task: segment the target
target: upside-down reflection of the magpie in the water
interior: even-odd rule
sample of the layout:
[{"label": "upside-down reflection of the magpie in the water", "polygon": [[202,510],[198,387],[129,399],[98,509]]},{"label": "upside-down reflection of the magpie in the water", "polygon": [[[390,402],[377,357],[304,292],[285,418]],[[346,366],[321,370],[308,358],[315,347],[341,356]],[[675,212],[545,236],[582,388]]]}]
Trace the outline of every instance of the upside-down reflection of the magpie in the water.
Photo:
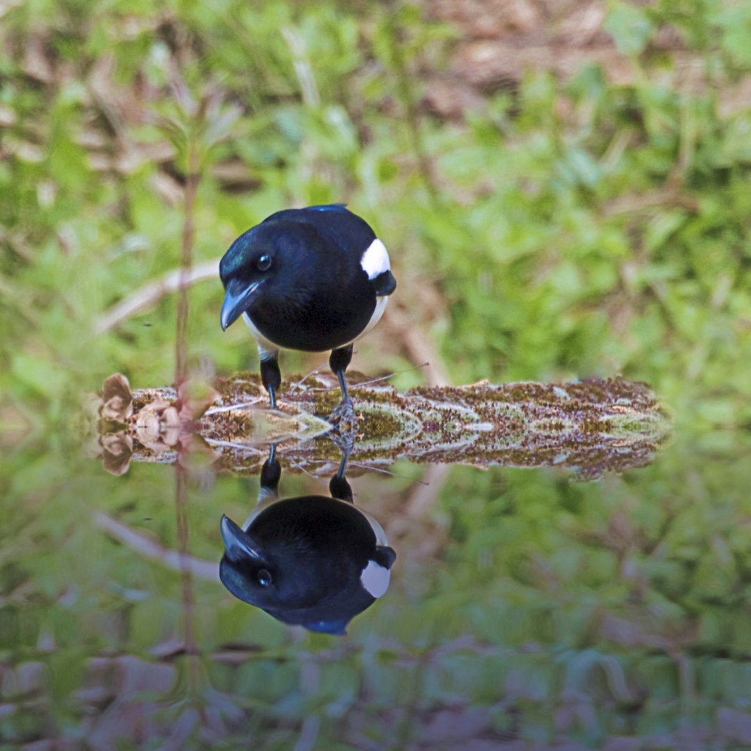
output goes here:
[{"label": "upside-down reflection of the magpie in the water", "polygon": [[272,449],[245,530],[222,516],[219,577],[234,596],[282,623],[343,635],[385,593],[397,554],[381,525],[354,507],[345,464],[330,481],[332,498],[279,499]]}]

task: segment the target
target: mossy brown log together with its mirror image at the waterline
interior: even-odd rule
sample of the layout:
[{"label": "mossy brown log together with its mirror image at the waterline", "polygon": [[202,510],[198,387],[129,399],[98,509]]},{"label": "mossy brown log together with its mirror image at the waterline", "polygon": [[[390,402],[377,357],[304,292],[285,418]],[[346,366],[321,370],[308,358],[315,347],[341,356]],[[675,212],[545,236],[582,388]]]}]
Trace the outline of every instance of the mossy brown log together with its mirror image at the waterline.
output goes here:
[{"label": "mossy brown log together with its mirror image at the waterline", "polygon": [[[624,379],[560,385],[534,382],[415,388],[348,374],[358,430],[351,468],[383,468],[397,459],[481,468],[565,466],[578,478],[645,466],[668,438],[668,409],[647,385]],[[258,474],[264,445],[279,444],[288,471],[320,472],[338,464],[326,417],[338,388],[327,375],[282,386],[283,412],[264,409],[267,395],[249,374],[213,388],[185,385],[130,390],[127,379],[104,382],[92,407],[98,415],[97,454],[120,474],[130,461],[213,460],[217,469]],[[336,436],[334,431],[333,436]],[[185,459],[183,458],[185,457]],[[194,457],[192,460],[187,457]],[[328,472],[330,474],[330,472]]]}]

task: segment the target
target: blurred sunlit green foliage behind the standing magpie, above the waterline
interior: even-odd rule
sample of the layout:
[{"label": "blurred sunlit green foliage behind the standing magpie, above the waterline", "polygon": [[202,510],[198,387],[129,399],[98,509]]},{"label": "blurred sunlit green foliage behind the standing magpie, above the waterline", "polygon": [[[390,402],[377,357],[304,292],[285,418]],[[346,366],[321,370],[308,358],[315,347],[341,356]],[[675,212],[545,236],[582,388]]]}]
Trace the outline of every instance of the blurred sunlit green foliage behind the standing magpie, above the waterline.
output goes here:
[{"label": "blurred sunlit green foliage behind the standing magpie, above the waterline", "polygon": [[[412,5],[176,4],[157,21],[149,3],[82,17],[50,2],[42,30],[30,7],[5,18],[0,71],[9,397],[54,417],[65,373],[77,387],[113,370],[170,380],[171,300],[91,332],[176,267],[196,149],[197,260],[279,207],[348,201],[401,279],[439,291],[430,333],[455,382],[618,371],[686,424],[710,392],[731,424],[747,420],[749,115],[718,107],[746,74],[744,6],[617,3],[608,29],[632,85],[595,67],[566,83],[530,74],[464,125],[418,107],[415,73],[451,34]],[[694,83],[652,46],[666,25],[701,55]],[[242,192],[217,177],[226,164],[246,174]],[[243,332],[218,333],[221,294],[191,291],[192,360],[252,366]],[[366,343],[363,356],[375,365]]]}]

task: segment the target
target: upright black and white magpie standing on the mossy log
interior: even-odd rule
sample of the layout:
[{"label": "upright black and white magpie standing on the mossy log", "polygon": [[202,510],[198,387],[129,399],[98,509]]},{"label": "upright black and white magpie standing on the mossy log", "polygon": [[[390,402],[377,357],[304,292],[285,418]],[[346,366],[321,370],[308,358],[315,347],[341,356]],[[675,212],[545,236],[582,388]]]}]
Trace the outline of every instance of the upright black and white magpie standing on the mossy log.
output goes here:
[{"label": "upright black and white magpie standing on the mossy log", "polygon": [[279,350],[331,350],[342,403],[352,342],[383,315],[397,286],[384,244],[344,204],[278,211],[232,243],[219,264],[222,329],[240,316],[258,342],[261,382],[276,407]]}]

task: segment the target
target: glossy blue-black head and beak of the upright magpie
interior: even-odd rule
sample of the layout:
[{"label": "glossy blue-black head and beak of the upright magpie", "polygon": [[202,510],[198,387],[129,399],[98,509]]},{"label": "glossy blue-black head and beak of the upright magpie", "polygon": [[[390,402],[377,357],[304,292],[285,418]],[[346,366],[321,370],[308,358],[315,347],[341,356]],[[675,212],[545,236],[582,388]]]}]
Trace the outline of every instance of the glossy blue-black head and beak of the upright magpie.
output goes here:
[{"label": "glossy blue-black head and beak of the upright magpie", "polygon": [[267,220],[240,235],[219,263],[222,329],[252,306],[294,304],[305,295],[320,243],[313,228],[299,222]]}]

